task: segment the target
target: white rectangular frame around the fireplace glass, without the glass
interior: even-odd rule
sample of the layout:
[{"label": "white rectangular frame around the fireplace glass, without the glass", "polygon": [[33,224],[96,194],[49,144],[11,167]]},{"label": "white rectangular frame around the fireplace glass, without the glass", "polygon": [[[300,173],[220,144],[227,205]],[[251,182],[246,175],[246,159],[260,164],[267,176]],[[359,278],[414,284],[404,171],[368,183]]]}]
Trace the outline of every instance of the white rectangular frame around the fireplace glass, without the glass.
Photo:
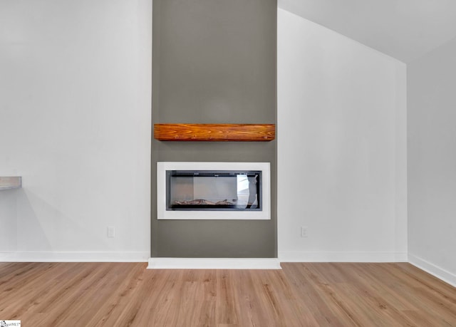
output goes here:
[{"label": "white rectangular frame around the fireplace glass, without the glass", "polygon": [[[167,170],[261,170],[262,209],[259,211],[166,210]],[[269,162],[157,162],[157,219],[271,219]]]}]

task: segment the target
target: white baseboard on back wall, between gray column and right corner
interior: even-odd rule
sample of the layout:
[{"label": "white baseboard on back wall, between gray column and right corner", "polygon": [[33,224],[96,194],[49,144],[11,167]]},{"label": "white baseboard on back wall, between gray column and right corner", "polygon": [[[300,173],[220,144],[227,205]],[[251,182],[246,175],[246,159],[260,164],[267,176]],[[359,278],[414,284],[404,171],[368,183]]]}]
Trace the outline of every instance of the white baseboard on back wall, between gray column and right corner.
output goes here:
[{"label": "white baseboard on back wall, between gray column and right corner", "polygon": [[407,262],[406,252],[279,251],[281,262]]}]

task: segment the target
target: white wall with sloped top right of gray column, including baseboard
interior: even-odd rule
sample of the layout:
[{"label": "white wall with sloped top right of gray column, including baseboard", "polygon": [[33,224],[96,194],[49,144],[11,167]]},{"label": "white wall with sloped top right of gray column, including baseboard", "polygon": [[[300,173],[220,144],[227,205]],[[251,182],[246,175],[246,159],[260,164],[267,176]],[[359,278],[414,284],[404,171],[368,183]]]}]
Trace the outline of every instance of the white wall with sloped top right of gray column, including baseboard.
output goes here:
[{"label": "white wall with sloped top right of gray column, including baseboard", "polygon": [[406,261],[405,64],[281,9],[278,49],[279,259]]}]

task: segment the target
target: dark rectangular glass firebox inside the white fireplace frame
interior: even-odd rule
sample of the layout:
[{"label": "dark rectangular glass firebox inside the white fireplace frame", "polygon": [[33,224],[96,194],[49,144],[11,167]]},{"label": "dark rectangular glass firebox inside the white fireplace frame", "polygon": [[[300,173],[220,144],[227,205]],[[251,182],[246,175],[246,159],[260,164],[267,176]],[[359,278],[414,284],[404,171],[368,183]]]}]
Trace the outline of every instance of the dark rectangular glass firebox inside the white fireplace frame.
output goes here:
[{"label": "dark rectangular glass firebox inside the white fireplace frame", "polygon": [[261,171],[167,170],[167,210],[259,210]]}]

